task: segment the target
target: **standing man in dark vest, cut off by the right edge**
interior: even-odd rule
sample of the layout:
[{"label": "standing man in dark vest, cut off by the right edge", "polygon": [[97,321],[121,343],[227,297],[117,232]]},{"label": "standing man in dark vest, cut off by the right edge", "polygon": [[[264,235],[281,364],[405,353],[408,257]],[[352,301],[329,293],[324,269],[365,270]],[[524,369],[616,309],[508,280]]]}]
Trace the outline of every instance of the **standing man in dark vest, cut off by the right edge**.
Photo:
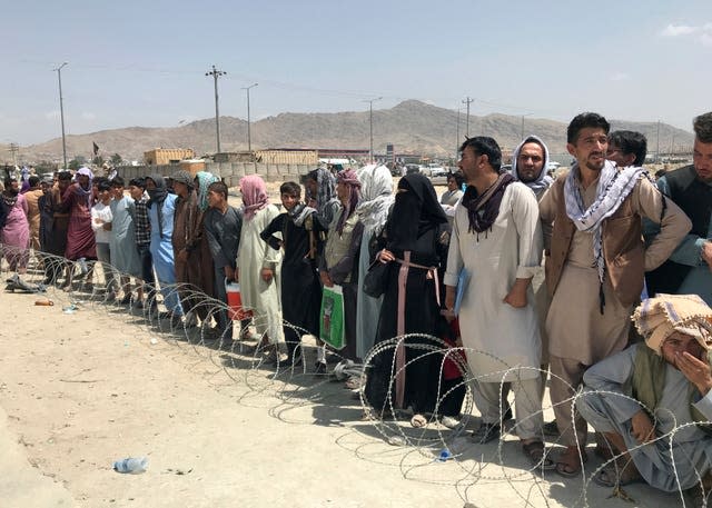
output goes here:
[{"label": "standing man in dark vest, cut off by the right edge", "polygon": [[[699,295],[712,306],[712,111],[695,118],[693,128],[692,166],[657,180],[657,188],[690,217],[692,231],[646,281],[649,295]],[[656,232],[646,227],[646,237]]]}]

